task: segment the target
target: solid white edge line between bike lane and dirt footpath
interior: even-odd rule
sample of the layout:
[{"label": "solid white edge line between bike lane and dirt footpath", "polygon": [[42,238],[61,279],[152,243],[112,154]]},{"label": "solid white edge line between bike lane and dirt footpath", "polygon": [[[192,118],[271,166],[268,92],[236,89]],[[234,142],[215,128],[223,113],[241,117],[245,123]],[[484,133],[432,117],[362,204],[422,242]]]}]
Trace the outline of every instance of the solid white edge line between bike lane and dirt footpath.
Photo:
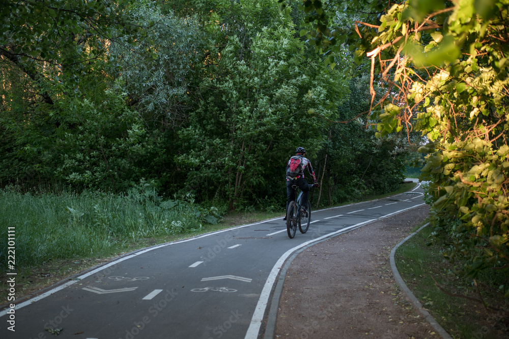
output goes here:
[{"label": "solid white edge line between bike lane and dirt footpath", "polygon": [[262,293],[260,294],[260,298],[258,299],[258,303],[256,305],[256,309],[254,309],[253,316],[251,318],[251,323],[249,324],[249,328],[247,329],[246,336],[244,337],[244,339],[257,339],[258,338],[258,332],[260,332],[260,326],[262,325],[263,315],[265,314],[265,310],[267,309],[267,302],[268,302],[269,297],[270,297],[270,292],[272,291],[272,286],[274,285],[274,282],[276,281],[276,278],[279,275],[279,270],[281,269],[281,267],[283,267],[283,264],[285,263],[285,260],[287,260],[288,257],[290,257],[290,255],[292,253],[294,253],[296,250],[298,250],[300,248],[303,248],[304,246],[306,246],[308,244],[312,244],[314,242],[318,242],[318,241],[320,241],[322,239],[325,239],[327,237],[332,237],[334,235],[345,233],[349,229],[356,228],[356,227],[361,227],[362,225],[369,224],[369,223],[371,223],[373,221],[382,220],[382,219],[391,217],[391,215],[402,213],[404,211],[407,211],[409,209],[416,208],[416,207],[419,207],[419,206],[422,206],[422,205],[425,205],[425,203],[418,204],[418,205],[415,205],[415,206],[412,206],[412,207],[408,207],[408,208],[405,208],[405,209],[401,209],[399,211],[392,212],[390,214],[384,215],[383,217],[380,217],[380,218],[377,218],[377,219],[371,219],[371,220],[367,220],[367,221],[364,221],[364,222],[356,224],[356,225],[345,227],[345,228],[343,228],[341,230],[338,230],[338,231],[335,231],[335,232],[323,235],[323,236],[321,236],[319,238],[303,242],[300,245],[295,246],[293,249],[290,249],[287,252],[285,252],[285,254],[283,254],[276,261],[275,265],[272,267],[272,270],[269,273],[269,276],[268,276],[268,278],[267,278],[267,280],[265,282],[265,285],[263,286]]}]

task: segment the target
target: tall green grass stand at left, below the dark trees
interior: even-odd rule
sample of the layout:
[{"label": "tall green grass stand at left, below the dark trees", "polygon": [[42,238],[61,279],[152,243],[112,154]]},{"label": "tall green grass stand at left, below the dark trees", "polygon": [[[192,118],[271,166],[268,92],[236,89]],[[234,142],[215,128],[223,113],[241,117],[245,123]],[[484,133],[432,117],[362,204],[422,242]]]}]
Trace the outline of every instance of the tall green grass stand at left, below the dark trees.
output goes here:
[{"label": "tall green grass stand at left, below the dark trees", "polygon": [[[211,210],[193,203],[141,198],[0,190],[0,262],[7,263],[8,227],[15,230],[16,266],[22,268],[49,259],[99,256],[143,238],[192,232],[206,219],[214,221]],[[4,273],[5,265],[0,267]]]}]

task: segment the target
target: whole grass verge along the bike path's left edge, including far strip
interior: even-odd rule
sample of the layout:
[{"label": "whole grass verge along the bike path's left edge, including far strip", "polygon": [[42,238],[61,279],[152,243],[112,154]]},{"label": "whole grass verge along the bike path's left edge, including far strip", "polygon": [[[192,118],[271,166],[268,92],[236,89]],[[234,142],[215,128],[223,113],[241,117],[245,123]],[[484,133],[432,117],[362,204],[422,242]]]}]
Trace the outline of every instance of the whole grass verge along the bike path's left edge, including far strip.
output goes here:
[{"label": "whole grass verge along the bike path's left edge, including far strip", "polygon": [[[405,183],[397,192],[365,197],[363,201],[414,187],[415,183]],[[138,249],[284,217],[284,210],[237,211],[212,225],[203,220],[207,211],[202,210],[202,216],[197,217],[191,203],[158,209],[147,199],[103,193],[31,195],[4,190],[0,191],[0,206],[0,225],[16,231],[18,297]],[[0,260],[7,262],[7,227],[0,234]],[[3,269],[0,304],[6,303],[8,296],[7,271]]]}]

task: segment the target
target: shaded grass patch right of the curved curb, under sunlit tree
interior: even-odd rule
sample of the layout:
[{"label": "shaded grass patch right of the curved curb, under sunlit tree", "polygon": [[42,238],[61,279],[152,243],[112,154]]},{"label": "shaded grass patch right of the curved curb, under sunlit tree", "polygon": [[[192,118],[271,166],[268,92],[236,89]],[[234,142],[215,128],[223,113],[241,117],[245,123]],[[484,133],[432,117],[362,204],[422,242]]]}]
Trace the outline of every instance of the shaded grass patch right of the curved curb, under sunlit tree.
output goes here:
[{"label": "shaded grass patch right of the curved curb, under sunlit tree", "polygon": [[[489,305],[507,309],[503,298],[490,289],[477,291],[473,281],[458,266],[444,260],[442,243],[436,240],[429,244],[432,231],[432,227],[425,227],[401,245],[395,255],[398,270],[407,286],[453,338],[509,337],[503,313],[488,311],[482,302],[472,300],[480,300],[482,295]],[[494,281],[502,277],[485,278]]]}]

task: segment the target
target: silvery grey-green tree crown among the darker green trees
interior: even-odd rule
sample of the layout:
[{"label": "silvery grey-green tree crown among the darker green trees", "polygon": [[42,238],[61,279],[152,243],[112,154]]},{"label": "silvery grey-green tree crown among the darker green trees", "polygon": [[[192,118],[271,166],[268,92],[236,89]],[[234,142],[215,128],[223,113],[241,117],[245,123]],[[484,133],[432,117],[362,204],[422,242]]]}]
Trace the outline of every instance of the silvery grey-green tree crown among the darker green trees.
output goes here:
[{"label": "silvery grey-green tree crown among the darker green trees", "polygon": [[145,116],[149,126],[181,125],[192,109],[194,82],[198,81],[204,52],[204,34],[195,18],[162,14],[155,4],[132,6],[131,20],[147,28],[111,44],[110,66],[128,94],[129,106]]}]

